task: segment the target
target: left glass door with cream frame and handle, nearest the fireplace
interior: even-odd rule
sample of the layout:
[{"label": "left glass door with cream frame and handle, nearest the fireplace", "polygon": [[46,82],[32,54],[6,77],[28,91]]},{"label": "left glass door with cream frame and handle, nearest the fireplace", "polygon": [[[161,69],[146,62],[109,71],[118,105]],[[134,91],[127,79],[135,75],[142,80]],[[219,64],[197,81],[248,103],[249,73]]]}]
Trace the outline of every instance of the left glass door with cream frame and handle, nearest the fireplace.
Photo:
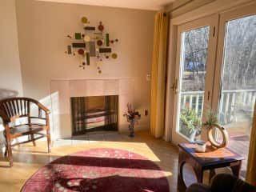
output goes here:
[{"label": "left glass door with cream frame and handle, nearest the fireplace", "polygon": [[[174,82],[173,141],[200,138],[202,117],[211,105],[217,15],[178,26]],[[205,104],[205,105],[204,105]]]}]

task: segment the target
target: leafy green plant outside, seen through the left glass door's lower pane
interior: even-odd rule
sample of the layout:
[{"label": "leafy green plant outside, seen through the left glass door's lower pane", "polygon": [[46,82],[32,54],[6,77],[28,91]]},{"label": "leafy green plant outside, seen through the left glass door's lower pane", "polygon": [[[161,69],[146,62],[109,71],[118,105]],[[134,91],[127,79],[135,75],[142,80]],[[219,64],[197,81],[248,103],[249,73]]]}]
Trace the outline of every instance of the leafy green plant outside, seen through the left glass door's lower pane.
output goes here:
[{"label": "leafy green plant outside, seen through the left glass door's lower pane", "polygon": [[180,122],[181,133],[194,142],[195,136],[200,134],[201,131],[201,118],[194,109],[185,108],[181,111]]}]

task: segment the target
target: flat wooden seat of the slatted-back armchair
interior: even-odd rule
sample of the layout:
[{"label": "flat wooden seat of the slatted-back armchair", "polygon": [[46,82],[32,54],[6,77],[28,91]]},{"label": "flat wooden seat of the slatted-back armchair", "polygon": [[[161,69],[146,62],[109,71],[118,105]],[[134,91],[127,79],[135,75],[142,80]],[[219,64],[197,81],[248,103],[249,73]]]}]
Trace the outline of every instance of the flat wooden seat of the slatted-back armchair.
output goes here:
[{"label": "flat wooden seat of the slatted-back armchair", "polygon": [[27,135],[33,134],[41,130],[46,130],[46,125],[42,124],[28,124],[10,127],[10,134],[12,135]]}]

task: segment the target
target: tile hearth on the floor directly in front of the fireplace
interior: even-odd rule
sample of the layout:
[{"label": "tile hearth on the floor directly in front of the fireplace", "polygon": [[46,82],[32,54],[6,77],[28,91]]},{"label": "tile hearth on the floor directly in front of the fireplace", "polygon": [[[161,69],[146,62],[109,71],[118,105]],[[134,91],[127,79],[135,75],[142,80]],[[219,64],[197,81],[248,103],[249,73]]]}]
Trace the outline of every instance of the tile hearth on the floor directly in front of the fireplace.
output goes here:
[{"label": "tile hearth on the floor directly in front of the fireplace", "polygon": [[86,134],[72,136],[70,138],[59,138],[54,141],[53,146],[66,146],[91,142],[120,141],[129,138],[128,133],[120,134],[118,131],[92,131]]}]

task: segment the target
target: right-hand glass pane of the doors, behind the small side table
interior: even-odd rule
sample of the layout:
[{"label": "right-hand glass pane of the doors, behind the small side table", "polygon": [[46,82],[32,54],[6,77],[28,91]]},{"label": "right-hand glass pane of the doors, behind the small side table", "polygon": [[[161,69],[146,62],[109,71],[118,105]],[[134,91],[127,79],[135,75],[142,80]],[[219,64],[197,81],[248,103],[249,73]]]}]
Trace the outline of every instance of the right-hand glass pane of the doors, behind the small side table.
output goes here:
[{"label": "right-hand glass pane of the doors, behind the small side table", "polygon": [[[230,136],[229,147],[248,156],[256,97],[256,16],[226,22],[222,92],[218,118]],[[242,163],[246,174],[247,159]]]}]

